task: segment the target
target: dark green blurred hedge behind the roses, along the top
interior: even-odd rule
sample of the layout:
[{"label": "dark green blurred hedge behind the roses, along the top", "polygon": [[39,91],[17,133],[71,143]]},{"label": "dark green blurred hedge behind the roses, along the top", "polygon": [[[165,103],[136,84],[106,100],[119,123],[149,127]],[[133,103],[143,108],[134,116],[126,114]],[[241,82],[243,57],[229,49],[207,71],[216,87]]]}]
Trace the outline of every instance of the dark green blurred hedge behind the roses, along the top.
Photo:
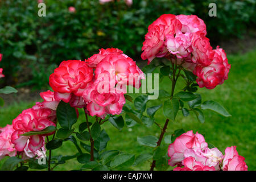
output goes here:
[{"label": "dark green blurred hedge behind the roses, along the top", "polygon": [[[124,1],[105,5],[97,0],[44,2],[46,17],[38,16],[37,1],[0,1],[1,68],[6,76],[2,84],[43,88],[61,61],[87,59],[102,47],[122,49],[139,61],[147,27],[162,14],[198,15],[205,20],[213,43],[241,37],[256,19],[254,0],[141,0],[131,7]],[[211,2],[217,4],[217,17],[208,16]],[[69,13],[69,6],[76,13]]]}]

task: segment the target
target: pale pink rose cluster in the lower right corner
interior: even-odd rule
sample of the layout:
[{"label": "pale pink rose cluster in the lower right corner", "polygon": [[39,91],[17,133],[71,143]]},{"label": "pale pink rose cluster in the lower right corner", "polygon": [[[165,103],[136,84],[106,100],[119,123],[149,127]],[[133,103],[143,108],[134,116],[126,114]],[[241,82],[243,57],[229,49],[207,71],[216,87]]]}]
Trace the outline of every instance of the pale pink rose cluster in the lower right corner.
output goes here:
[{"label": "pale pink rose cluster in the lower right corner", "polygon": [[170,166],[174,171],[247,171],[245,158],[236,146],[227,147],[225,155],[218,148],[209,148],[203,135],[188,131],[177,137],[168,148]]}]

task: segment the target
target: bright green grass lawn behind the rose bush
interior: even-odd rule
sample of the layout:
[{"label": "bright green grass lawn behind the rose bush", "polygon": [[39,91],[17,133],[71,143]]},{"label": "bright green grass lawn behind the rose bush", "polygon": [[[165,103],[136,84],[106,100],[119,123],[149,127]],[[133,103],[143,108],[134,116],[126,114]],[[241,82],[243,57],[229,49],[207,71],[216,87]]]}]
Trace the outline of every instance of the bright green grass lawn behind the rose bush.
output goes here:
[{"label": "bright green grass lawn behind the rose bush", "polygon": [[[245,157],[245,162],[249,170],[256,169],[255,158],[255,110],[256,110],[256,84],[255,84],[255,60],[256,50],[246,53],[245,55],[228,55],[231,69],[229,78],[222,85],[218,85],[212,90],[199,89],[197,92],[202,95],[203,101],[214,100],[222,104],[226,110],[232,114],[232,117],[225,118],[211,111],[205,111],[205,123],[199,123],[191,113],[188,117],[183,117],[181,112],[178,113],[176,121],[170,122],[167,134],[172,134],[176,129],[183,128],[185,131],[198,131],[205,135],[208,143],[218,147],[224,154],[224,150],[229,146],[237,146],[238,153]],[[177,85],[176,92],[183,85]],[[170,90],[171,84],[168,78],[164,78],[160,83],[160,89]],[[138,94],[136,94],[138,95]],[[135,95],[134,95],[135,96]],[[156,104],[160,101],[150,101],[148,105]],[[34,103],[15,103],[0,110],[0,127],[4,127],[7,123],[11,124],[12,120],[22,112],[34,105]],[[165,118],[162,110],[155,114],[156,121],[162,126]],[[84,114],[80,113],[79,125],[85,120]],[[115,129],[110,123],[106,122],[102,126],[109,134],[110,141],[107,150],[120,150],[131,154],[141,154],[142,152],[152,152],[152,148],[140,146],[137,142],[137,136],[155,135],[159,137],[160,131],[158,127],[152,126],[148,129],[142,125],[136,125],[128,129],[124,127],[122,131]],[[76,127],[77,130],[77,127]],[[163,143],[164,144],[164,143]],[[164,144],[168,147],[168,144]],[[77,152],[71,142],[64,142],[57,150],[53,150],[53,155],[63,154],[71,155]],[[0,161],[0,166],[5,159]],[[57,170],[63,169],[79,169],[82,164],[76,160],[69,160],[67,164],[56,167]],[[148,170],[150,161],[143,163],[135,170]]]}]

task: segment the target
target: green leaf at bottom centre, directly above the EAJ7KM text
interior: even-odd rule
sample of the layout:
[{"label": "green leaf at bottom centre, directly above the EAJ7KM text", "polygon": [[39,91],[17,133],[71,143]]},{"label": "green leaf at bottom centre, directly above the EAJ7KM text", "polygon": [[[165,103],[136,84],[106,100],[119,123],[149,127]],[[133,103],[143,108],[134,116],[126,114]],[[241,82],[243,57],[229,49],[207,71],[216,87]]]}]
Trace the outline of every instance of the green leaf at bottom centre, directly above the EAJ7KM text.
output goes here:
[{"label": "green leaf at bottom centre, directly above the EAJ7KM text", "polygon": [[110,162],[110,167],[113,168],[124,168],[133,165],[135,155],[133,154],[119,154]]}]

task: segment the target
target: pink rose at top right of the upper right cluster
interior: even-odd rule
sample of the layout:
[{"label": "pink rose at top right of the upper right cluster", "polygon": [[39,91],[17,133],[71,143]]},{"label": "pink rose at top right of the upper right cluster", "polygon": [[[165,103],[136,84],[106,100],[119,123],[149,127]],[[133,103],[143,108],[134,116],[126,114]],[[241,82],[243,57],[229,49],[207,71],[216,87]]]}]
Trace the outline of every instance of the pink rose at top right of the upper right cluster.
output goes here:
[{"label": "pink rose at top right of the upper right cluster", "polygon": [[178,19],[181,24],[182,32],[203,32],[205,36],[207,34],[206,25],[204,21],[198,18],[196,15],[177,15],[176,19]]}]

